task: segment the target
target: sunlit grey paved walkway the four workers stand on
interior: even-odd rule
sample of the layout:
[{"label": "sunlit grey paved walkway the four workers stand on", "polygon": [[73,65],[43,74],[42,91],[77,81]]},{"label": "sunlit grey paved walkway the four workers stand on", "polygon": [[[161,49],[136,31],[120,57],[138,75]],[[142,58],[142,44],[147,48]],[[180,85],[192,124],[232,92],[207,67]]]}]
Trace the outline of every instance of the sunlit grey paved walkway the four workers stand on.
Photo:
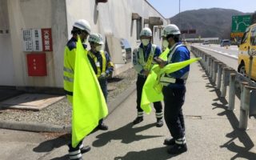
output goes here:
[{"label": "sunlit grey paved walkway the four workers stand on", "polygon": [[[256,159],[256,121],[249,119],[250,130],[238,130],[239,101],[236,111],[226,110],[228,98],[220,98],[220,93],[209,82],[198,63],[191,65],[187,82],[186,102],[183,107],[186,122],[188,151],[178,156],[166,153],[162,142],[170,137],[166,125],[155,126],[154,112],[144,116],[144,121],[136,126],[130,122],[136,117],[136,92],[113,110],[105,122],[107,131],[97,131],[87,136],[84,145],[92,146],[83,154],[90,160],[226,160]],[[68,159],[66,141],[62,138],[45,139],[41,134],[16,132],[0,129],[0,159]],[[26,136],[27,134],[27,136]],[[26,138],[19,138],[24,135]],[[10,141],[11,139],[11,141]],[[22,141],[22,140],[23,141]],[[27,141],[27,142],[24,142]],[[14,148],[14,150],[12,150]],[[11,150],[11,152],[10,152]],[[22,154],[21,154],[22,153]]]}]

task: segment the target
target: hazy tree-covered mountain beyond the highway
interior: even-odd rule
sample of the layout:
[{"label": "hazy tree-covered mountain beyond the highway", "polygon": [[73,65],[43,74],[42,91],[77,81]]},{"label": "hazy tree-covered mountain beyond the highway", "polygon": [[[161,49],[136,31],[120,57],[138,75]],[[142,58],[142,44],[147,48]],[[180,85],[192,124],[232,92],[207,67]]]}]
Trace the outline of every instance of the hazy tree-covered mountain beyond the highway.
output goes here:
[{"label": "hazy tree-covered mountain beyond the highway", "polygon": [[[180,30],[196,30],[196,34],[186,34],[186,38],[230,38],[232,16],[243,15],[238,10],[221,8],[187,10],[170,18]],[[248,13],[247,13],[248,14]]]}]

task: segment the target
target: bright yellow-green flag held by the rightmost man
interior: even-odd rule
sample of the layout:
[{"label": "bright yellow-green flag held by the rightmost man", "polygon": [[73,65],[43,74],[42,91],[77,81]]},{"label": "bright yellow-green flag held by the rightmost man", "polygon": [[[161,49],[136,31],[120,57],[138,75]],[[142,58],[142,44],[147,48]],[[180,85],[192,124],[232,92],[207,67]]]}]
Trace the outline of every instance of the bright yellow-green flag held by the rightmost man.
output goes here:
[{"label": "bright yellow-green flag held by the rightmost man", "polygon": [[[161,55],[160,58],[163,60],[167,59],[167,54],[170,50],[165,50]],[[167,52],[167,53],[166,53]],[[169,65],[160,69],[158,65],[154,65],[150,71],[149,76],[146,78],[146,82],[142,89],[142,101],[141,101],[141,108],[149,114],[151,112],[150,103],[151,102],[158,102],[163,100],[162,95],[162,84],[159,83],[159,78],[161,74],[173,73],[177,70],[181,70],[185,66],[188,66],[192,62],[196,62],[201,58],[191,58],[190,60],[183,61],[183,62],[175,62],[170,63]]]}]

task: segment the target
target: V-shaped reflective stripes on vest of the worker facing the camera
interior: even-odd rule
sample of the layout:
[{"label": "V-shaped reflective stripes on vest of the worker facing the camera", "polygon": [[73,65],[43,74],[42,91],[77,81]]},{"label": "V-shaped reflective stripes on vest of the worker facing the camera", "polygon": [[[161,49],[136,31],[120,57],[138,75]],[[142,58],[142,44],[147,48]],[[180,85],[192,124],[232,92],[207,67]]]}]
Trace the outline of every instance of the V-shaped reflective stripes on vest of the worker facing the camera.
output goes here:
[{"label": "V-shaped reflective stripes on vest of the worker facing the camera", "polygon": [[152,44],[151,50],[150,50],[150,55],[149,58],[147,58],[147,61],[145,62],[144,59],[144,51],[142,50],[141,47],[138,48],[138,62],[143,66],[144,70],[150,70],[151,67],[153,66],[152,61],[154,58],[154,50],[156,49],[156,45]]}]

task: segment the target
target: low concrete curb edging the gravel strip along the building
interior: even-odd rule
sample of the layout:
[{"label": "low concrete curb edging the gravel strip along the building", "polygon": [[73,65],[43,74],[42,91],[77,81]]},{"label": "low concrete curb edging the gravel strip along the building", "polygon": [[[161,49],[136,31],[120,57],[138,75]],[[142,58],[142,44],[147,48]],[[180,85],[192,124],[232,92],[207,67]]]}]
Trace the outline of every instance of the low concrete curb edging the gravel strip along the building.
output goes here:
[{"label": "low concrete curb edging the gravel strip along the building", "polygon": [[[133,84],[122,94],[118,95],[112,102],[108,104],[109,115],[134,92],[136,86]],[[0,121],[0,128],[9,130],[25,130],[33,132],[70,132],[71,126],[60,126],[38,122],[12,122]]]}]

